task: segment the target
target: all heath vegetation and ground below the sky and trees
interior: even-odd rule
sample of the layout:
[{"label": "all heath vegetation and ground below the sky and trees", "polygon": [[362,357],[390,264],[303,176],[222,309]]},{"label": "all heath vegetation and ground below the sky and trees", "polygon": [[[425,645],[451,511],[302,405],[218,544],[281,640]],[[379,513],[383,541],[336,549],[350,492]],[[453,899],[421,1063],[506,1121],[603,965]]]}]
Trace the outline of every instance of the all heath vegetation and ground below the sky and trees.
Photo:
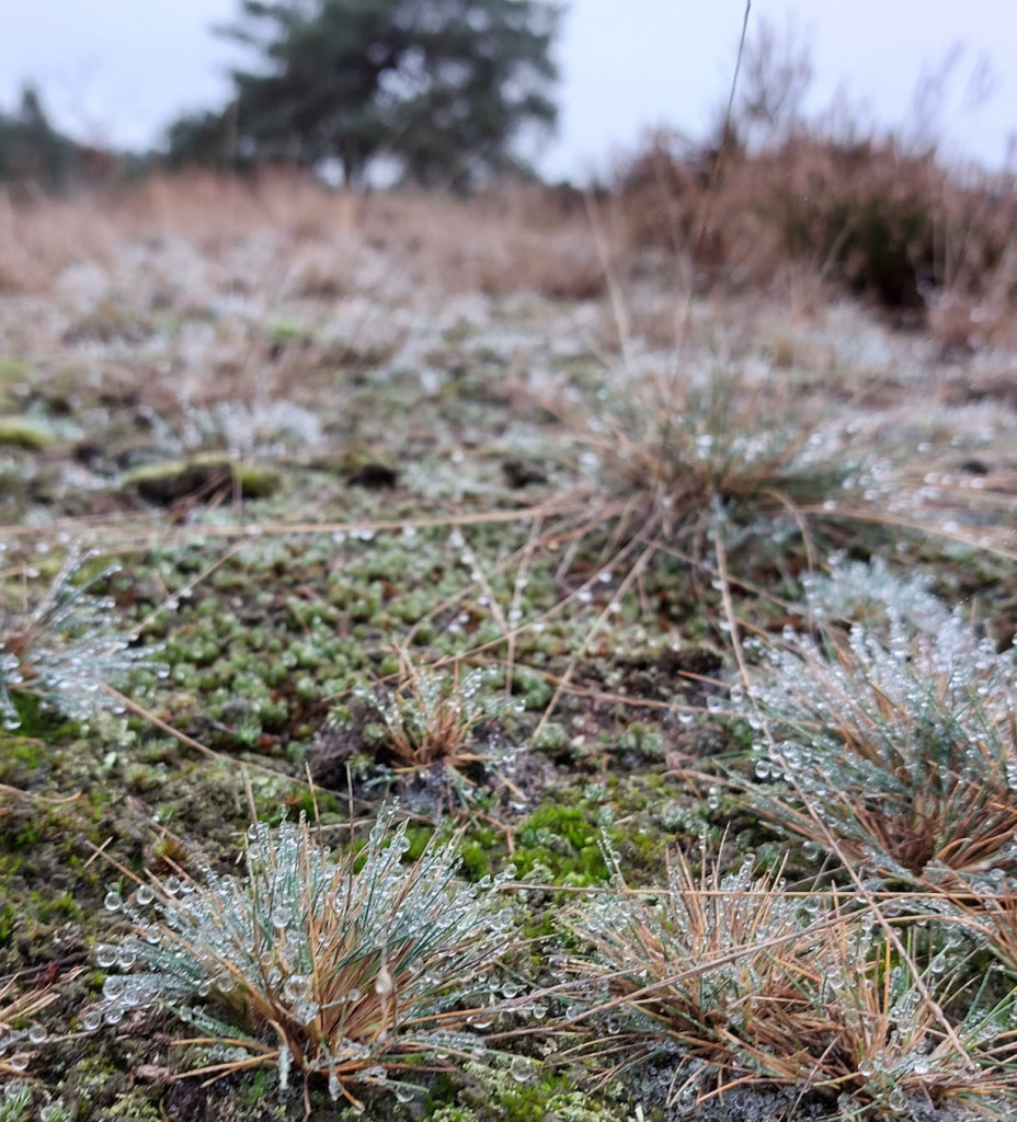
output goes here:
[{"label": "all heath vegetation and ground below the sky and trees", "polygon": [[1010,188],[694,155],[0,203],[0,1116],[1013,1116]]}]

